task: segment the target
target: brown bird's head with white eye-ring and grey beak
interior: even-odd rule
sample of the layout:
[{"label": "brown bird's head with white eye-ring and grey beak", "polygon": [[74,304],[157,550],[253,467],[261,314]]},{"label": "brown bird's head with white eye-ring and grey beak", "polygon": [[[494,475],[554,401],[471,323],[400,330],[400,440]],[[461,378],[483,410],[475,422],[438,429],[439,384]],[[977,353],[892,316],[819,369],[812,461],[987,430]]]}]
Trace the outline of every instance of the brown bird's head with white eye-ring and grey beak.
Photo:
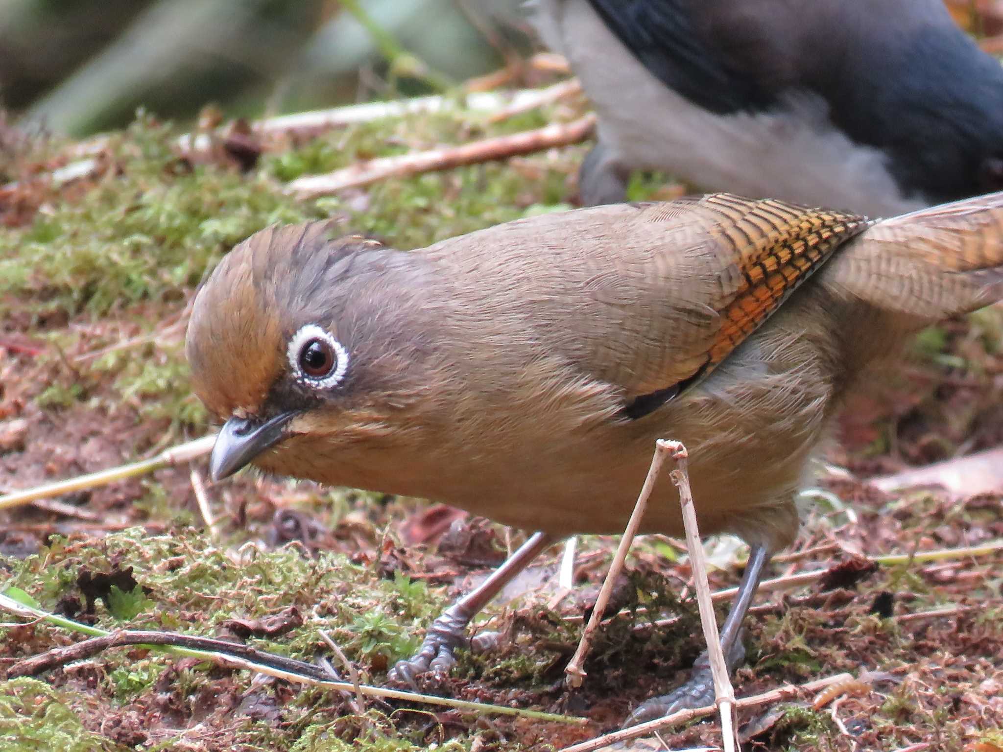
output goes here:
[{"label": "brown bird's head with white eye-ring and grey beak", "polygon": [[411,255],[358,236],[331,240],[330,230],[263,230],[196,297],[192,386],[225,421],[214,479],[254,463],[331,481],[327,458],[345,446],[407,432],[422,346],[401,325],[415,286],[394,281],[414,273]]}]

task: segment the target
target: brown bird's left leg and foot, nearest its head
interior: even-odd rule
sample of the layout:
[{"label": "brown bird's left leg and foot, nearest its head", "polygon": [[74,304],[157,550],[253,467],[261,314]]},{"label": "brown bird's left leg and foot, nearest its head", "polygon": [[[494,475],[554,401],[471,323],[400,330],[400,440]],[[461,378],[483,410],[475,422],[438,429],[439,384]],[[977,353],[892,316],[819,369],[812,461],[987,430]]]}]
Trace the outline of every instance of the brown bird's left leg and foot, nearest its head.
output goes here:
[{"label": "brown bird's left leg and foot, nearest its head", "polygon": [[555,540],[557,537],[547,532],[533,533],[489,578],[432,622],[421,648],[410,659],[397,662],[390,670],[390,679],[413,685],[418,674],[448,671],[456,663],[452,652],[463,644],[470,620]]}]

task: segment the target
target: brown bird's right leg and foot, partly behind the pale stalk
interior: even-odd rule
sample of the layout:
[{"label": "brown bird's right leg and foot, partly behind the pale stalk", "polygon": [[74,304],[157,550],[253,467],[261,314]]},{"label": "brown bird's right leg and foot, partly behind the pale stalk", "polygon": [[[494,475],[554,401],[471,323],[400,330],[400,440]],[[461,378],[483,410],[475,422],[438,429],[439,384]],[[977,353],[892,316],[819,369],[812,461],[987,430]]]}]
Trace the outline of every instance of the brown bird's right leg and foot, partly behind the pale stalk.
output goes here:
[{"label": "brown bird's right leg and foot, partly behind the pale stalk", "polygon": [[[721,628],[721,649],[724,652],[724,661],[728,665],[729,673],[734,671],[735,667],[745,659],[745,648],[741,641],[742,620],[745,619],[749,606],[752,604],[752,598],[755,596],[759,581],[762,579],[763,568],[768,560],[769,553],[765,546],[753,545],[751,547],[749,560],[745,566],[745,574],[742,575],[742,582],[738,586],[738,593],[735,595],[731,611],[728,612],[727,619],[724,620],[724,625]],[[714,680],[710,674],[710,662],[707,660],[705,651],[693,663],[689,679],[669,694],[653,697],[641,703],[624,722],[624,727],[662,718],[679,710],[713,704]]]}]

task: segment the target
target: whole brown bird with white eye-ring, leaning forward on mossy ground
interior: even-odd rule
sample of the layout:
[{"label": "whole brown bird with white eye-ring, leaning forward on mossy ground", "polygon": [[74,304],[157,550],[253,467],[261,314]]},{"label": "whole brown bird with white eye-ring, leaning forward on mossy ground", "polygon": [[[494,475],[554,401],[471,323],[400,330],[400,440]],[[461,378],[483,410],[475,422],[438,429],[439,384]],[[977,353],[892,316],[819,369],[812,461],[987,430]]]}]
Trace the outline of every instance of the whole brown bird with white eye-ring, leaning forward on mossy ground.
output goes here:
[{"label": "whole brown bird with white eye-ring, leaning forward on mossy ground", "polygon": [[[225,477],[275,473],[454,504],[538,530],[397,665],[463,628],[559,537],[623,530],[655,440],[683,441],[703,533],[751,546],[732,666],[794,495],[865,368],[1003,298],[1003,193],[880,222],[715,195],[519,220],[400,252],[323,222],[240,244],[200,291],[193,386]],[[678,535],[675,487],[643,528]],[[631,722],[712,699],[706,664]]]}]

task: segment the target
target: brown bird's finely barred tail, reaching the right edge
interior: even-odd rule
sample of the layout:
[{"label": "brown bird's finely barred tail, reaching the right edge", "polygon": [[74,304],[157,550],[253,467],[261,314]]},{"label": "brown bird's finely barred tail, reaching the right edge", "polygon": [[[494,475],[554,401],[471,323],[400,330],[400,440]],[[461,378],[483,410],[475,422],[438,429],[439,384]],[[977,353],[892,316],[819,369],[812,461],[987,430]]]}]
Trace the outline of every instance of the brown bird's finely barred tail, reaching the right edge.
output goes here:
[{"label": "brown bird's finely barred tail, reaching the right edge", "polygon": [[876,222],[820,281],[903,329],[1003,300],[1003,192]]}]

